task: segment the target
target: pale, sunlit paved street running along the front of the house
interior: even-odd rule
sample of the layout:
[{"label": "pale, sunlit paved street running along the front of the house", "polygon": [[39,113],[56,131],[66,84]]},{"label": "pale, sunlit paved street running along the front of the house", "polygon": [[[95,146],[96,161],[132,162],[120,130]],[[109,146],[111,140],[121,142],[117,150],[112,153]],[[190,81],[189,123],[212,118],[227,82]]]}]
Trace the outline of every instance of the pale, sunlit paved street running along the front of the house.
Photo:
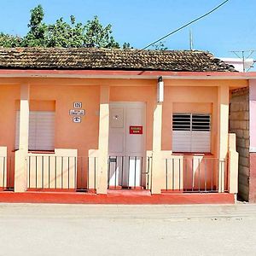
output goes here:
[{"label": "pale, sunlit paved street running along the front of the house", "polygon": [[0,255],[256,255],[256,205],[0,204]]}]

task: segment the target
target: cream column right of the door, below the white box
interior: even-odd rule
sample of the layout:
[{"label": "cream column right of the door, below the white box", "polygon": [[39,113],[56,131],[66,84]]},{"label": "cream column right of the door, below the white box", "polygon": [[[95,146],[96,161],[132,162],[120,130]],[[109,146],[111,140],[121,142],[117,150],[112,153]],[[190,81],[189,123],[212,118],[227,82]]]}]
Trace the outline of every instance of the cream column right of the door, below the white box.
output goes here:
[{"label": "cream column right of the door, below the white box", "polygon": [[162,143],[162,103],[157,103],[154,108],[153,123],[153,162],[152,162],[152,194],[160,194],[165,187],[164,159],[161,154]]}]

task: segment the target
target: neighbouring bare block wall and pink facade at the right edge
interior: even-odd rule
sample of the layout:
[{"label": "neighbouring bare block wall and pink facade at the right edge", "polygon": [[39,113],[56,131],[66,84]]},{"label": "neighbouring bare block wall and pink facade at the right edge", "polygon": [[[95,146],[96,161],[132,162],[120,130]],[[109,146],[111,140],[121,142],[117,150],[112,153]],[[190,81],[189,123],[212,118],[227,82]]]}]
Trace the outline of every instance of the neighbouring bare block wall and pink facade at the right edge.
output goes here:
[{"label": "neighbouring bare block wall and pink facade at the right edge", "polygon": [[256,73],[247,73],[248,87],[233,90],[230,131],[236,133],[239,152],[239,195],[256,202]]}]

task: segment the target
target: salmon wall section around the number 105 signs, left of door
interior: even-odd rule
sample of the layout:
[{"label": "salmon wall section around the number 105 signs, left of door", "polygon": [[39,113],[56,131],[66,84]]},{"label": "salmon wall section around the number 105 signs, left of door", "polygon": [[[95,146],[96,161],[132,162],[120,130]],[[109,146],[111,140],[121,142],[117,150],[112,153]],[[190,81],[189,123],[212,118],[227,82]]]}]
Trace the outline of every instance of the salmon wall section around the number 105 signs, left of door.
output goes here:
[{"label": "salmon wall section around the number 105 signs, left of door", "polygon": [[[79,156],[98,148],[99,86],[31,85],[30,98],[31,110],[55,107],[55,148],[77,148]],[[69,115],[73,102],[82,102],[85,115],[81,123],[73,123]]]}]

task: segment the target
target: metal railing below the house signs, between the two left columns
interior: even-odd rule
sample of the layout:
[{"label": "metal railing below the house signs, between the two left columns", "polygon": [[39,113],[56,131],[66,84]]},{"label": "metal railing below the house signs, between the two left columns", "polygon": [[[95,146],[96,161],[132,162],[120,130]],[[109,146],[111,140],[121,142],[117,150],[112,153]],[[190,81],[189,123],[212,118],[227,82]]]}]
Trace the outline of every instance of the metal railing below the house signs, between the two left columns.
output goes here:
[{"label": "metal railing below the house signs, between the two left columns", "polygon": [[96,157],[29,155],[27,188],[54,190],[95,190]]}]

